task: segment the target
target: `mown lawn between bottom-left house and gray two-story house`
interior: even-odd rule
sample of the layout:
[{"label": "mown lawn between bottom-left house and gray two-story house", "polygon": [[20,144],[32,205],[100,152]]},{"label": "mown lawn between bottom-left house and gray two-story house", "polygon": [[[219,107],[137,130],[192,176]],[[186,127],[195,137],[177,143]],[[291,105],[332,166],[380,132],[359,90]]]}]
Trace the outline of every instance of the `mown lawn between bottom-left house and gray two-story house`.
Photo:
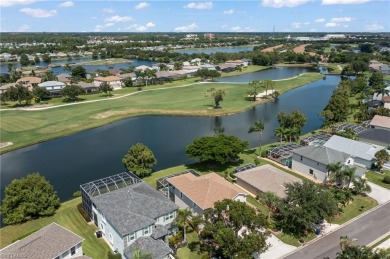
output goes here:
[{"label": "mown lawn between bottom-left house and gray two-story house", "polygon": [[92,258],[106,258],[108,251],[111,250],[102,239],[96,238],[95,225],[87,224],[81,217],[76,207],[80,202],[81,198],[76,198],[62,203],[56,214],[51,217],[40,218],[23,224],[1,228],[0,247],[3,248],[21,236],[25,236],[52,222],[56,222],[85,239],[83,241],[83,252],[86,255]]}]

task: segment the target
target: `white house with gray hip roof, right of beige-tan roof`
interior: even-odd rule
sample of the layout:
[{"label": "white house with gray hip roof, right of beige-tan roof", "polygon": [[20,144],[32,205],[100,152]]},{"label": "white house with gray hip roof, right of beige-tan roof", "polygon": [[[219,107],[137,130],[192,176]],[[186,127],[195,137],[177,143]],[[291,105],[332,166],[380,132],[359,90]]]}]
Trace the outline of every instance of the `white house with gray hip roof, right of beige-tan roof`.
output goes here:
[{"label": "white house with gray hip roof, right of beige-tan roof", "polygon": [[317,181],[325,182],[328,177],[327,165],[341,162],[353,166],[351,155],[324,146],[306,146],[292,150],[291,169],[306,174]]}]

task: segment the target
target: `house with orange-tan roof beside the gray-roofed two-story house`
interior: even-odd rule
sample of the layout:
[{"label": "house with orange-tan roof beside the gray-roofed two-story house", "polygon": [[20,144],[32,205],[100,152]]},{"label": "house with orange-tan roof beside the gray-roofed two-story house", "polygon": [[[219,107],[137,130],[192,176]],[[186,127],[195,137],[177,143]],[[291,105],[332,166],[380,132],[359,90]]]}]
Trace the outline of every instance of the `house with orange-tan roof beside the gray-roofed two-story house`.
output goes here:
[{"label": "house with orange-tan roof beside the gray-roofed two-story house", "polygon": [[181,208],[189,208],[196,214],[203,214],[223,199],[246,201],[247,193],[216,173],[196,176],[188,172],[166,181],[169,198]]}]

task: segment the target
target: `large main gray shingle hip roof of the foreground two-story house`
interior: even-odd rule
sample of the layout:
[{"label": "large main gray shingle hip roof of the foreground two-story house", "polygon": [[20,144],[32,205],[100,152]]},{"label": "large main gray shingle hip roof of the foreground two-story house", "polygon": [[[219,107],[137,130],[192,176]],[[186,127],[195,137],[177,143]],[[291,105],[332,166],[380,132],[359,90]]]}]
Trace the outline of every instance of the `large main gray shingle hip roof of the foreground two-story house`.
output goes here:
[{"label": "large main gray shingle hip roof of the foreground two-story house", "polygon": [[178,206],[144,182],[91,198],[122,236],[153,225]]}]

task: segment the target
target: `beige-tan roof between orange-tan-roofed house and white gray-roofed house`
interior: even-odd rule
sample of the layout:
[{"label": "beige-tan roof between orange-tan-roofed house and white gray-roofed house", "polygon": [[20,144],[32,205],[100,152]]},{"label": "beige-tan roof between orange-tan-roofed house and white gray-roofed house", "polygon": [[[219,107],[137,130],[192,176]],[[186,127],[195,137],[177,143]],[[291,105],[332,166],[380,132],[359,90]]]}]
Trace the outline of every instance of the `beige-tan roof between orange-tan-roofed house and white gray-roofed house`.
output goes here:
[{"label": "beige-tan roof between orange-tan-roofed house and white gray-roofed house", "polygon": [[236,173],[235,176],[262,192],[274,192],[281,198],[286,196],[284,184],[302,182],[301,179],[285,173],[272,165],[251,168]]}]

